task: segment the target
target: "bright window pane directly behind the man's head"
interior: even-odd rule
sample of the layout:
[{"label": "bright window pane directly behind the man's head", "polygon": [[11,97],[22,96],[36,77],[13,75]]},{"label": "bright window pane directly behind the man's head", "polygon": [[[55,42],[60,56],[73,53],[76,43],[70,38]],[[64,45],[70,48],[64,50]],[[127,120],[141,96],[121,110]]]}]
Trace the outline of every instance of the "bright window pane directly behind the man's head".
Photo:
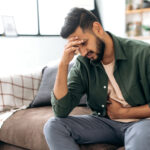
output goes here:
[{"label": "bright window pane directly behind the man's head", "polygon": [[72,7],[94,9],[93,0],[39,0],[40,33],[56,35]]}]

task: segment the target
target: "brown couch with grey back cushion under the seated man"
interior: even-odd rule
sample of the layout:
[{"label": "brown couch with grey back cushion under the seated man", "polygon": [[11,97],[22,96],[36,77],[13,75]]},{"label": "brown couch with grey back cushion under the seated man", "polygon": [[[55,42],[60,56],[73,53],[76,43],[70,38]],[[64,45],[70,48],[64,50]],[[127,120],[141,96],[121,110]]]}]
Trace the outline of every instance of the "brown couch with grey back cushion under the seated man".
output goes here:
[{"label": "brown couch with grey back cushion under the seated man", "polygon": [[[72,65],[73,63],[70,64],[69,69]],[[50,91],[53,89],[56,72],[57,64],[44,67],[37,92],[34,93],[34,98],[26,104],[27,108],[14,112],[6,119],[0,129],[0,150],[49,150],[43,135],[43,126],[49,118],[54,116],[50,103]],[[86,95],[84,95],[79,106],[70,115],[91,113],[86,105]],[[79,146],[81,150],[124,150],[124,147],[106,143]]]}]

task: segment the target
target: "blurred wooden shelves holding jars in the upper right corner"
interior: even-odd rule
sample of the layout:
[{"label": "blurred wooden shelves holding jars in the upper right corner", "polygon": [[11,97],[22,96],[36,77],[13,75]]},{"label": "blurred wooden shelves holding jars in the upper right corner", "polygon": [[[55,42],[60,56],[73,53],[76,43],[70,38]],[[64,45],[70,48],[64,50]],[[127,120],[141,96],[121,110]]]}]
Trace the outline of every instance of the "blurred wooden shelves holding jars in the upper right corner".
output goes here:
[{"label": "blurred wooden shelves holding jars in the upper right corner", "polygon": [[126,34],[138,40],[150,40],[150,8],[144,0],[126,0]]}]

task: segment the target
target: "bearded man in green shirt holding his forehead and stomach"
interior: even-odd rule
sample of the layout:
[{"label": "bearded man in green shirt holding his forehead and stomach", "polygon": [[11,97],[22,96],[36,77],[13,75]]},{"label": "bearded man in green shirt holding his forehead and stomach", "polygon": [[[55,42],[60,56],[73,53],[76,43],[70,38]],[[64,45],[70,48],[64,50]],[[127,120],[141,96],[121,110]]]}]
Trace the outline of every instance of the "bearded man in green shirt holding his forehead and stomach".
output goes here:
[{"label": "bearded man in green shirt holding his forehead and stomach", "polygon": [[[68,43],[52,93],[56,117],[44,127],[50,150],[79,150],[78,144],[98,142],[149,150],[150,45],[105,32],[83,8],[68,14],[61,36]],[[93,115],[68,116],[84,93]]]}]

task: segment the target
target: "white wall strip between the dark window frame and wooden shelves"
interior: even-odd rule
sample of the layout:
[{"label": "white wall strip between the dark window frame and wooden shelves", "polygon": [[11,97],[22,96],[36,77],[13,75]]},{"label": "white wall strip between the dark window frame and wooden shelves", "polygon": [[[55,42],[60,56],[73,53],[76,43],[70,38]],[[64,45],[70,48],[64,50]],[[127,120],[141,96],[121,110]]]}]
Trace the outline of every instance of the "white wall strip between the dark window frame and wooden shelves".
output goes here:
[{"label": "white wall strip between the dark window frame and wooden shelves", "polygon": [[125,36],[125,0],[97,0],[103,27],[118,36]]}]

